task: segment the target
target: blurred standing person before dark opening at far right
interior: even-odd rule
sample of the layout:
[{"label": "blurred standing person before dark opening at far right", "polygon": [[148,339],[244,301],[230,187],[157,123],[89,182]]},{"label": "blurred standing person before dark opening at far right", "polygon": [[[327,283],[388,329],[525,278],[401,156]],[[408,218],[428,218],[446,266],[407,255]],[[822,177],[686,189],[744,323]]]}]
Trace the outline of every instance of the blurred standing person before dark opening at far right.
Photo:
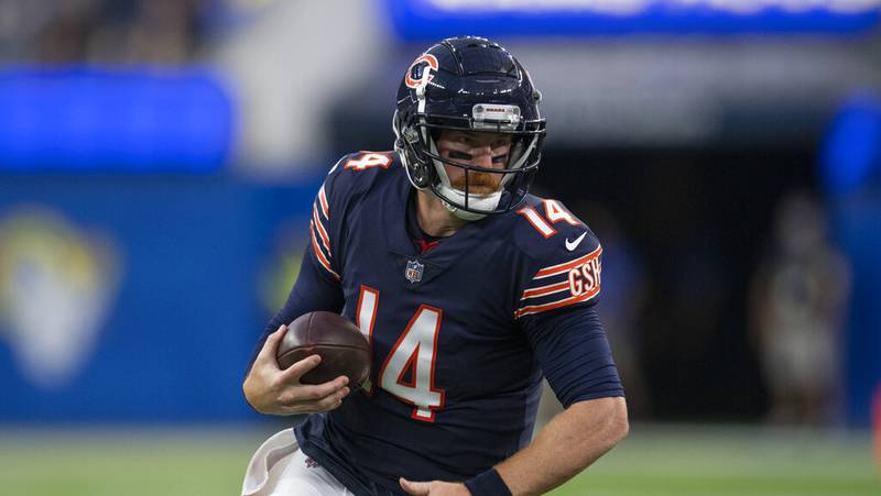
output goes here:
[{"label": "blurred standing person before dark opening at far right", "polygon": [[771,400],[783,423],[830,420],[838,383],[838,333],[850,268],[827,240],[827,219],[812,197],[779,206],[771,252],[755,274],[751,324]]}]

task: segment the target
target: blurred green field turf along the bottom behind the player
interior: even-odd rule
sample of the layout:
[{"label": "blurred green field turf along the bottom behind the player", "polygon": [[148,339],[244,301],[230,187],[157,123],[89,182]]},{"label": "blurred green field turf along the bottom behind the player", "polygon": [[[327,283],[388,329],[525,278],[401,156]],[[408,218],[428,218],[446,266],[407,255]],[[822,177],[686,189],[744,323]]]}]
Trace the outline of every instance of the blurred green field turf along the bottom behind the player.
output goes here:
[{"label": "blurred green field turf along the bottom behind the player", "polygon": [[[237,495],[270,432],[0,429],[0,494]],[[633,426],[555,496],[881,495],[868,433]]]}]

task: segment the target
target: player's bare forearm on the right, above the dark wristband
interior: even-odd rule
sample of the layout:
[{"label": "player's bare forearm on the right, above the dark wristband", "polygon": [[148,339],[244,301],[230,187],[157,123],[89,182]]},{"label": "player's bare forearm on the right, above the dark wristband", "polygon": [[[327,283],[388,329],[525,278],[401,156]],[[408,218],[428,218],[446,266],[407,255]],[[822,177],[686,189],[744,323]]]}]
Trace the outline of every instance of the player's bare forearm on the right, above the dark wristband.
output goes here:
[{"label": "player's bare forearm on the right, above the dark wristband", "polygon": [[543,494],[588,467],[627,431],[624,398],[579,401],[554,417],[529,447],[496,470],[514,496]]}]

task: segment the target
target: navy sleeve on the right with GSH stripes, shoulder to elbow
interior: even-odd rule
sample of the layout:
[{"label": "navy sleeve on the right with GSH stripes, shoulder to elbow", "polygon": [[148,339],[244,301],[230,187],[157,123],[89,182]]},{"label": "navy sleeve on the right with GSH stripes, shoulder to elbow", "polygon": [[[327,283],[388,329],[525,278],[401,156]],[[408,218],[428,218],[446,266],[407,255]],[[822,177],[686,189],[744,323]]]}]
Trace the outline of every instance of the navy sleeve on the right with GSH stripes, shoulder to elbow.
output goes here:
[{"label": "navy sleeve on the right with GSH stripes, shoulder to elbow", "polygon": [[514,319],[526,334],[548,384],[565,406],[623,396],[596,304],[602,246],[559,202],[535,200],[521,209],[515,242],[520,266]]}]

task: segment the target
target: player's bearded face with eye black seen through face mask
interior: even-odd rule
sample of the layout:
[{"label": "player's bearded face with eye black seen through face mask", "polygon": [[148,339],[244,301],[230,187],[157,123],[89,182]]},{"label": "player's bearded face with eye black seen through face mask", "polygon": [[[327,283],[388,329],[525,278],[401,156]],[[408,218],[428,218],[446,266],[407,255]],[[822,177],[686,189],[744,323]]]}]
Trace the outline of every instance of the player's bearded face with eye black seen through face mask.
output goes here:
[{"label": "player's bearded face with eye black seen through face mask", "polygon": [[[442,157],[463,165],[502,169],[508,166],[511,153],[511,136],[500,133],[444,130],[437,140]],[[465,190],[466,172],[459,167],[444,165],[454,188]],[[503,174],[469,170],[468,191],[489,195],[499,190]]]}]

